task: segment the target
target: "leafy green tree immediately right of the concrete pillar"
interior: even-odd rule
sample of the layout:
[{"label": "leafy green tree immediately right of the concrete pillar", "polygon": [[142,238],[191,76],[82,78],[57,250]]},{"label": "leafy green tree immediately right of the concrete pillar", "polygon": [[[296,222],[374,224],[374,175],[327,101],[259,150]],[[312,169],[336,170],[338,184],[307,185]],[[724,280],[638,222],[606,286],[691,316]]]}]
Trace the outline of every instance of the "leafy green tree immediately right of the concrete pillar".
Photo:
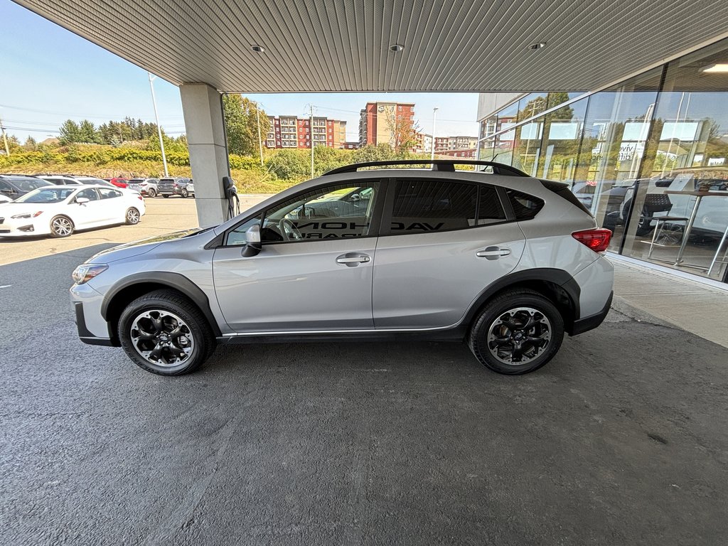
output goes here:
[{"label": "leafy green tree immediately right of the concrete pillar", "polygon": [[261,139],[270,130],[270,120],[258,103],[241,95],[223,95],[225,129],[230,154],[253,156],[258,154],[258,116]]}]

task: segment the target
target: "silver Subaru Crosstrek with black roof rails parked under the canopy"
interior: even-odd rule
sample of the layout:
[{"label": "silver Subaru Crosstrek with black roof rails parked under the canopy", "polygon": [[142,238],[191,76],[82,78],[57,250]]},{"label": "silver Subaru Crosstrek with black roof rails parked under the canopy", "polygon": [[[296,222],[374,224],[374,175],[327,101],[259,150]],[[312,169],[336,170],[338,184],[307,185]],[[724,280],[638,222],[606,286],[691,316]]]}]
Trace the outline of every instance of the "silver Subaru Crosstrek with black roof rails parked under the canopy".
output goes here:
[{"label": "silver Subaru Crosstrek with black roof rails parked under the canopy", "polygon": [[98,253],[74,272],[79,337],[169,376],[216,344],[395,335],[467,341],[518,374],[601,324],[612,233],[566,184],[492,162],[391,168],[416,163],[341,167],[219,226]]}]

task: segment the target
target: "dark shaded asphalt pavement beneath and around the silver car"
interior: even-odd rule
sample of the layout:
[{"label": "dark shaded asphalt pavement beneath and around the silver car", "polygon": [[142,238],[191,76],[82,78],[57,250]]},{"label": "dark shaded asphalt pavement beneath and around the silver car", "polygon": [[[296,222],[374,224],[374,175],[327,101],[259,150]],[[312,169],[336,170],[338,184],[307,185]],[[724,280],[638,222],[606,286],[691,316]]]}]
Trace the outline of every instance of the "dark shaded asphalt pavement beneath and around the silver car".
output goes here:
[{"label": "dark shaded asphalt pavement beneath and around the silver car", "polygon": [[76,338],[76,264],[0,266],[0,544],[718,545],[728,349],[612,312],[528,376],[461,344]]}]

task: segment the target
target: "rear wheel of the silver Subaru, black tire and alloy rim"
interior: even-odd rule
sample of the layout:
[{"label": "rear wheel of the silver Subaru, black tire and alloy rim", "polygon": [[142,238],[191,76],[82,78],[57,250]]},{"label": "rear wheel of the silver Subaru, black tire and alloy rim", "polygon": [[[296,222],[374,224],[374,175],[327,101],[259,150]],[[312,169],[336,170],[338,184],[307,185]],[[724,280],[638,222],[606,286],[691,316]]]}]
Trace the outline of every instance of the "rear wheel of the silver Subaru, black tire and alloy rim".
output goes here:
[{"label": "rear wheel of the silver Subaru, black tire and alloy rim", "polygon": [[[528,328],[531,320],[535,322]],[[539,341],[529,342],[529,338]],[[470,350],[481,364],[510,376],[541,368],[558,352],[562,340],[561,313],[549,299],[525,288],[489,301],[473,321],[468,337]],[[514,354],[517,351],[520,356]]]}]

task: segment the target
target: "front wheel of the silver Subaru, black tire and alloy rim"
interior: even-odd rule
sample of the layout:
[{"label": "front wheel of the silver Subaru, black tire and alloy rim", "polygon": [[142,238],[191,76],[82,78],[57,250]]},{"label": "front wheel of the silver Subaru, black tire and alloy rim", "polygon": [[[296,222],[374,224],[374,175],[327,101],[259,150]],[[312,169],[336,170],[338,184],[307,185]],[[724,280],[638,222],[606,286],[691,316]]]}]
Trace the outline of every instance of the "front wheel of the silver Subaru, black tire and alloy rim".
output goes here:
[{"label": "front wheel of the silver Subaru, black tire and alloy rim", "polygon": [[[178,328],[182,336],[169,335]],[[174,290],[154,290],[132,301],[119,317],[118,333],[127,356],[140,368],[160,376],[197,370],[213,354],[216,344],[202,312]]]}]

